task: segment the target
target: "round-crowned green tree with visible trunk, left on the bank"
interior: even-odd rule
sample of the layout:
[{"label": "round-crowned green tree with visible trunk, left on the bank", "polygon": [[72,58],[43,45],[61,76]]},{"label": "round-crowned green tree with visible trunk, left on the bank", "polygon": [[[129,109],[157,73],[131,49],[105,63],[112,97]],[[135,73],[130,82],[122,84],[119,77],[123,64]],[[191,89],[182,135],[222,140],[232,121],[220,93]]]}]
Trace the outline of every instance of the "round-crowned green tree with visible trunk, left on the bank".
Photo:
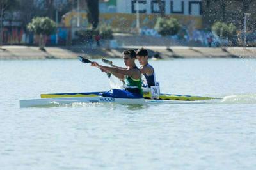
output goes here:
[{"label": "round-crowned green tree with visible trunk, left on the bank", "polygon": [[28,24],[28,30],[40,36],[40,50],[45,50],[44,36],[55,33],[56,27],[56,23],[49,19],[49,17],[35,17],[32,19],[32,22]]}]

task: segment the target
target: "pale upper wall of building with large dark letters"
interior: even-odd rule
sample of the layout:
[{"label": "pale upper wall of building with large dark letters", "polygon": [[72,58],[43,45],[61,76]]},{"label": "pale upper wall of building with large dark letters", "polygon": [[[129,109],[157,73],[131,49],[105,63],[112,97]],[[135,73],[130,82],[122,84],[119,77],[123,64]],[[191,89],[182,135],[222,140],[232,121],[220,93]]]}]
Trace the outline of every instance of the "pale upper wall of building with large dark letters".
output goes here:
[{"label": "pale upper wall of building with large dark letters", "polygon": [[[118,13],[136,13],[137,0],[116,0]],[[140,13],[159,13],[156,0],[138,0]],[[201,0],[163,0],[165,14],[202,15]]]}]

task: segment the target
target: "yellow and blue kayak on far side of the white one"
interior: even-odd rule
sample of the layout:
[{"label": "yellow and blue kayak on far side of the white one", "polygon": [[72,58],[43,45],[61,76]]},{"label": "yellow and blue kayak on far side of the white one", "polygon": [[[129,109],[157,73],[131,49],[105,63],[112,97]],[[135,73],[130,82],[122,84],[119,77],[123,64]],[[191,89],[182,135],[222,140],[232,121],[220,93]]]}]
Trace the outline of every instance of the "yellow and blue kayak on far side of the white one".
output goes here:
[{"label": "yellow and blue kayak on far side of the white one", "polygon": [[[41,94],[41,98],[74,98],[74,97],[99,97],[99,93],[102,92],[86,92],[86,93],[49,93]],[[144,92],[144,99],[150,99],[151,93]],[[164,94],[159,95],[159,100],[182,100],[182,101],[195,101],[195,100],[212,100],[219,99],[214,97],[201,97],[201,96],[192,96],[192,95],[173,95],[173,94]]]}]

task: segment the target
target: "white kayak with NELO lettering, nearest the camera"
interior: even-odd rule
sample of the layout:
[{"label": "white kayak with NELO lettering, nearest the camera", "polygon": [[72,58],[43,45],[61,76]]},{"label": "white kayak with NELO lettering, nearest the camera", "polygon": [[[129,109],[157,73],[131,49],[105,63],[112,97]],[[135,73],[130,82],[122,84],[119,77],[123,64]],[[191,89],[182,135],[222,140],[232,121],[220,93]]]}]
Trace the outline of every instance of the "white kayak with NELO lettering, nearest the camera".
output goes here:
[{"label": "white kayak with NELO lettering, nearest the camera", "polygon": [[65,97],[65,98],[40,98],[20,100],[20,108],[46,107],[76,103],[102,103],[102,104],[204,104],[205,101],[177,101],[177,100],[152,100],[144,98],[113,98],[113,97]]}]

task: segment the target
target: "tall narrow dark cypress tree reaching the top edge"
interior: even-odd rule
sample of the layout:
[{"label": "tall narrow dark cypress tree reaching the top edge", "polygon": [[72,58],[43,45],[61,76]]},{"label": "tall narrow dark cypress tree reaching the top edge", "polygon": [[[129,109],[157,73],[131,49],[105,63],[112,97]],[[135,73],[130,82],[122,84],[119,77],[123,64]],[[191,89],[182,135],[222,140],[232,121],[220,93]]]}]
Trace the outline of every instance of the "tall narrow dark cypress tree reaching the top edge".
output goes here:
[{"label": "tall narrow dark cypress tree reaching the top edge", "polygon": [[92,24],[93,29],[97,29],[99,24],[99,0],[86,0],[88,22]]}]

